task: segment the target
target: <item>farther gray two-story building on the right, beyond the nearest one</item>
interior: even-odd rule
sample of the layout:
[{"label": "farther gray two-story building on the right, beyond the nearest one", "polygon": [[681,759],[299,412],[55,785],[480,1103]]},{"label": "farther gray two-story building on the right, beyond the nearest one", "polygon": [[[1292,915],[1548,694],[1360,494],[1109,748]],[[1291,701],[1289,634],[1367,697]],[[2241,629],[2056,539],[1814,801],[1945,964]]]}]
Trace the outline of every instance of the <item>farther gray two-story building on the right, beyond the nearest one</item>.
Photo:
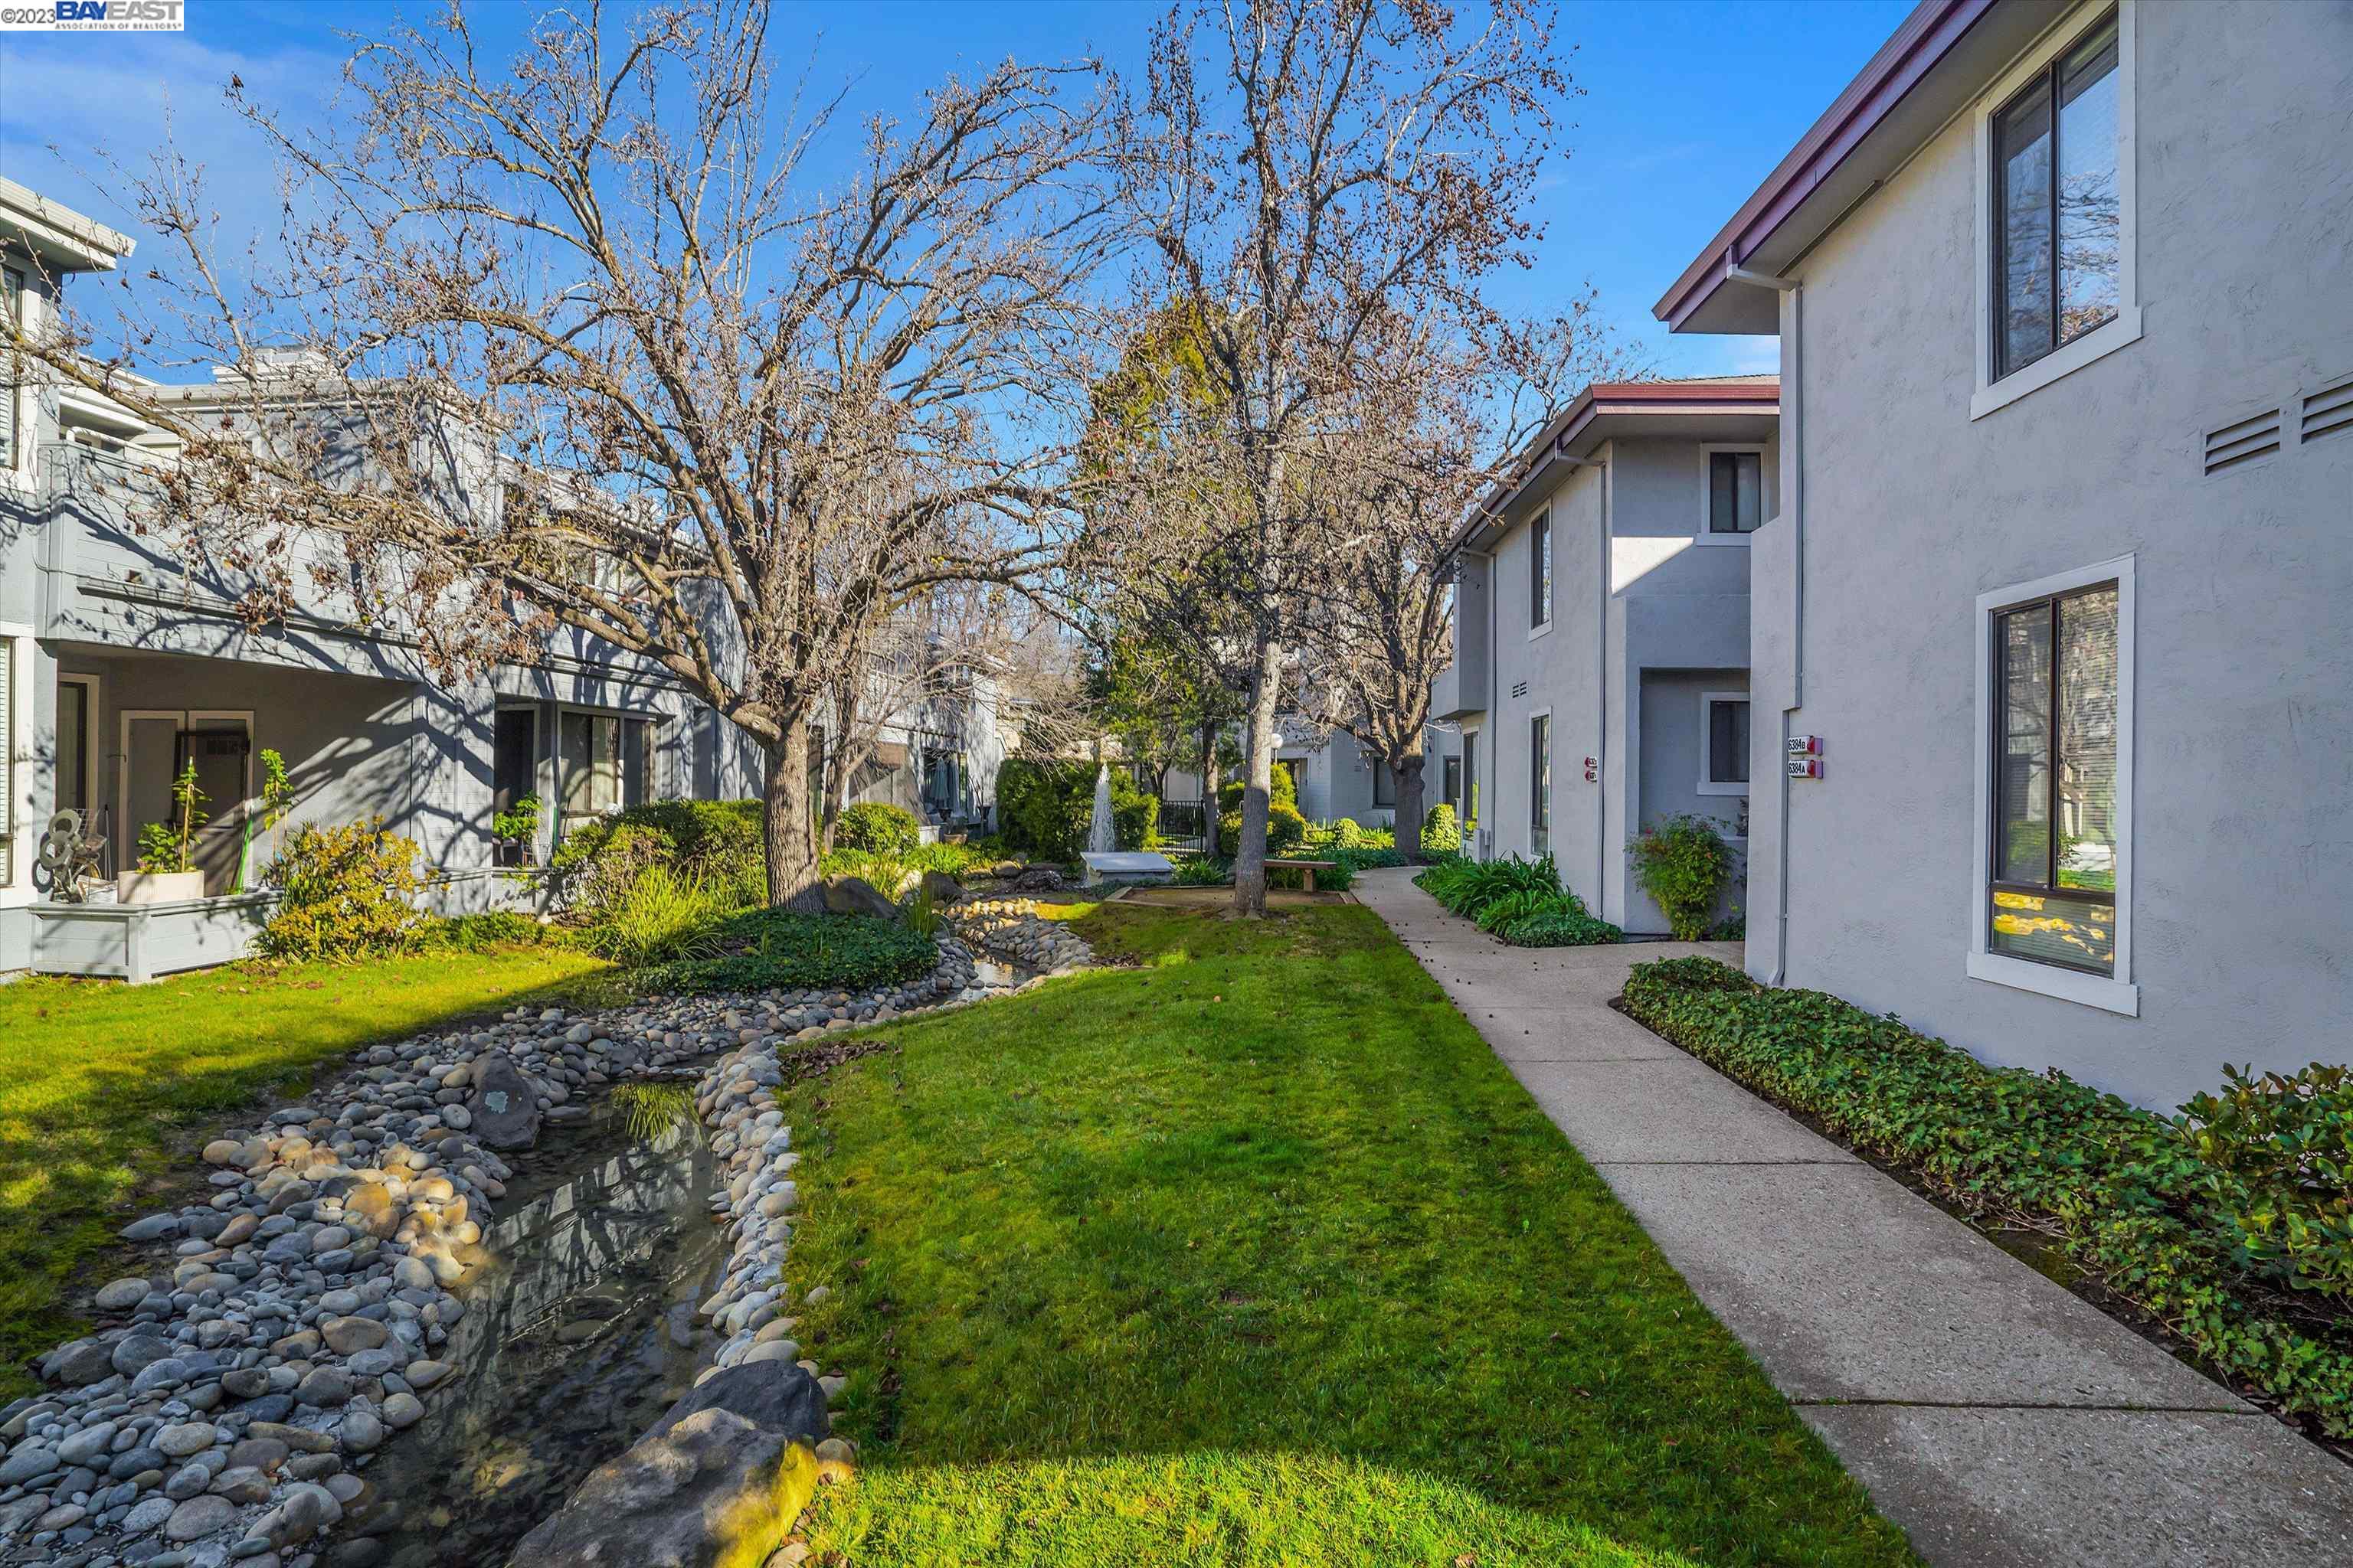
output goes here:
[{"label": "farther gray two-story building on the right, beyond the nearest one", "polygon": [[1666,931],[1633,835],[1697,813],[1746,837],[1748,543],[1779,494],[1777,411],[1772,376],[1588,386],[1466,522],[1431,799],[1471,823],[1468,853],[1548,853],[1628,931]]}]

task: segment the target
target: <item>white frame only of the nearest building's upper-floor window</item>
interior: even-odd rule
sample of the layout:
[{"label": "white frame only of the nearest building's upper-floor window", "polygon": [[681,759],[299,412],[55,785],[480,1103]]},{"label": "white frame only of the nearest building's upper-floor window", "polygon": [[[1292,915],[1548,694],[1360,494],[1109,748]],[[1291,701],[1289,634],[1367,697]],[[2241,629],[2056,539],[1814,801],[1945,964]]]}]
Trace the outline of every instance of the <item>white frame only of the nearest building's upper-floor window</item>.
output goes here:
[{"label": "white frame only of the nearest building's upper-floor window", "polygon": [[[2073,343],[2061,343],[2033,364],[1993,378],[1993,115],[2017,96],[2021,87],[2049,63],[2082,42],[2085,33],[2115,12],[2115,320],[2082,334]],[[2028,393],[2047,388],[2052,381],[2080,371],[2092,360],[2104,360],[2127,343],[2141,341],[2141,277],[2139,277],[2139,179],[2134,174],[2134,59],[2139,56],[2139,0],[2092,0],[2082,5],[2049,33],[2042,35],[2017,63],[1977,101],[1969,118],[1977,125],[1977,371],[1969,395],[1969,418],[1984,418],[2009,407]]]}]

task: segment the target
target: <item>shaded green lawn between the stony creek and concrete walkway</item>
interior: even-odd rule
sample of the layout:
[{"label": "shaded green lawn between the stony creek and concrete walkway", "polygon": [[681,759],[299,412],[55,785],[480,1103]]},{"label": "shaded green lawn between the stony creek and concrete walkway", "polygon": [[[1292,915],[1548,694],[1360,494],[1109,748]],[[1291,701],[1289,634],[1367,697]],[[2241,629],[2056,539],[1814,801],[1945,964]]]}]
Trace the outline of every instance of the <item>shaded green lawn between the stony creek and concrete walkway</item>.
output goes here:
[{"label": "shaded green lawn between the stony creek and concrete walkway", "polygon": [[1369,910],[1082,929],[793,1091],[819,1561],[1915,1561]]}]

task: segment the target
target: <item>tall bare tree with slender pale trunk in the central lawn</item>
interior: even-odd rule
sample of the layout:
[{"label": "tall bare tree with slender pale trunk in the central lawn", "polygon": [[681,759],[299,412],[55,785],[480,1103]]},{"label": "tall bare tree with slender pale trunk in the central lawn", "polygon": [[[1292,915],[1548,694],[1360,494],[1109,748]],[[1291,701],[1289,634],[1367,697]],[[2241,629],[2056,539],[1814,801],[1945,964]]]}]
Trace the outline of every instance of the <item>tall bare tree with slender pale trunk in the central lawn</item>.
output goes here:
[{"label": "tall bare tree with slender pale trunk in the central lawn", "polygon": [[1139,313],[1172,303],[1214,397],[1181,414],[1136,475],[1132,581],[1176,550],[1217,583],[1247,649],[1235,907],[1266,907],[1266,806],[1289,651],[1332,510],[1315,447],[1388,315],[1494,324],[1480,280],[1527,261],[1522,216],[1569,92],[1522,0],[1457,24],[1419,0],[1226,0],[1153,35],[1127,193],[1155,268]]}]

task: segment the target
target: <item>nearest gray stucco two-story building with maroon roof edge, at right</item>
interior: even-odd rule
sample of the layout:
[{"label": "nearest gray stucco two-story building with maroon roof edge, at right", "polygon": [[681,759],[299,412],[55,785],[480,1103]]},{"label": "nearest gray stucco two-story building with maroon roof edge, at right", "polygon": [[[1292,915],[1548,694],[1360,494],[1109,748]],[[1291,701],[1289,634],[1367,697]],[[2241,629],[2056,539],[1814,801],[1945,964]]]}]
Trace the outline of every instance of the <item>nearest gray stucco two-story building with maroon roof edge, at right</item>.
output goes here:
[{"label": "nearest gray stucco two-story building with maroon roof edge, at right", "polygon": [[1781,339],[1751,973],[2165,1110],[2344,1058],[2348,106],[2348,5],[1925,0],[1659,301]]}]

